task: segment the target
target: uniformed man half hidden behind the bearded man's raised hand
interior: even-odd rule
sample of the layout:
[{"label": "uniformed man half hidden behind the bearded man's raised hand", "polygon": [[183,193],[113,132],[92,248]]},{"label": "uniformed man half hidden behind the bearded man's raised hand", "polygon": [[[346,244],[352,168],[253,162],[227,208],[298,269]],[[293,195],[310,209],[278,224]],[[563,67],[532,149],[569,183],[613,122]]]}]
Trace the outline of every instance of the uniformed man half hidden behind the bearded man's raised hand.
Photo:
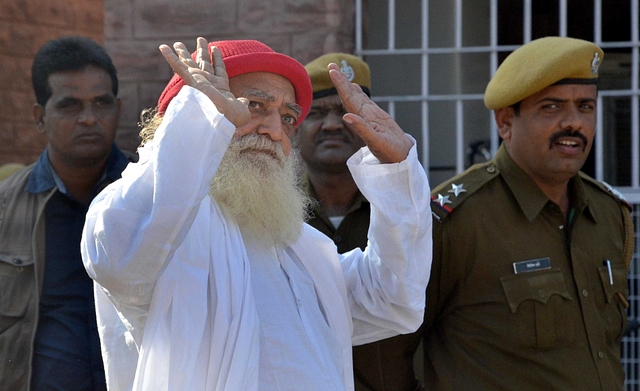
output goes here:
[{"label": "uniformed man half hidden behind the bearded man's raised hand", "polygon": [[[369,201],[360,193],[347,160],[365,144],[342,119],[347,112],[329,77],[327,65],[335,63],[350,82],[369,95],[369,66],[347,53],[328,53],[305,65],[313,88],[309,114],[298,128],[296,142],[305,162],[303,181],[308,195],[317,201],[309,225],[330,237],[345,253],[367,246]],[[356,391],[413,391],[421,389],[414,378],[410,347],[415,334],[373,342],[353,348]],[[409,349],[407,349],[409,347]]]}]

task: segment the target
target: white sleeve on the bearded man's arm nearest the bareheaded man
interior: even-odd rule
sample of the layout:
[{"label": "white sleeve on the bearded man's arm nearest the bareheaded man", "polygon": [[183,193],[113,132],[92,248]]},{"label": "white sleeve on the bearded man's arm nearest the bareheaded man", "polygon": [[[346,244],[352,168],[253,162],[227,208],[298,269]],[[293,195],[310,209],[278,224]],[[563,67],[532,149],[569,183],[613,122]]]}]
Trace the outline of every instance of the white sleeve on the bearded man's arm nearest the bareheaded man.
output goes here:
[{"label": "white sleeve on the bearded man's arm nearest the bareheaded man", "polygon": [[207,197],[234,131],[209,98],[183,87],[140,161],[91,203],[81,241],[85,268],[132,322],[146,319],[155,283]]}]

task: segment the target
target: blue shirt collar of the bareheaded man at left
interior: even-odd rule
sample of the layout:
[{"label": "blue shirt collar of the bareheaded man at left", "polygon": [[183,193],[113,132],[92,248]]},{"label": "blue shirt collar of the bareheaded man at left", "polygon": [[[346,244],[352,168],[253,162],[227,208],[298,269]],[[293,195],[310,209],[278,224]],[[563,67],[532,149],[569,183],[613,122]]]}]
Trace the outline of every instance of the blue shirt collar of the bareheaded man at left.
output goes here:
[{"label": "blue shirt collar of the bareheaded man at left", "polygon": [[[129,160],[114,143],[102,177],[96,184],[96,189],[101,189],[101,185],[105,182],[110,183],[119,179],[127,164],[129,164]],[[54,187],[57,187],[62,193],[67,194],[64,183],[51,166],[49,149],[45,148],[44,152],[38,157],[38,161],[29,176],[26,190],[29,193],[36,194],[46,192]]]}]

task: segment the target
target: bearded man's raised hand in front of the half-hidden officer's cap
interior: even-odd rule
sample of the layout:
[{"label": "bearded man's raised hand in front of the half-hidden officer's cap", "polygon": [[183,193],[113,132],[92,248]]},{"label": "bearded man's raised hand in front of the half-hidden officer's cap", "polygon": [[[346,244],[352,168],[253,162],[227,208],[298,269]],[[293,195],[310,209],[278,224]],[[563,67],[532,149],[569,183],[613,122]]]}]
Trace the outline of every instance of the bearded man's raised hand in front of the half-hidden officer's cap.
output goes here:
[{"label": "bearded man's raised hand in front of the half-hidden officer's cap", "polygon": [[336,64],[331,63],[328,68],[342,105],[348,111],[343,119],[349,128],[364,140],[381,163],[406,159],[413,143],[396,121],[362,92],[359,85],[349,82]]}]

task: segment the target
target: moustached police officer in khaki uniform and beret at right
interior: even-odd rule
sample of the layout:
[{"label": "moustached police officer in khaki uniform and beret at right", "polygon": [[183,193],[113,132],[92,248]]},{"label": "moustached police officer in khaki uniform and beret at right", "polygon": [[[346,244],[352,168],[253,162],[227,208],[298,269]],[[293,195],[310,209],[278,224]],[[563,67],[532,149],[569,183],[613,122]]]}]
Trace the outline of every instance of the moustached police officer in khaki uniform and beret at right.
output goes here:
[{"label": "moustached police officer in khaki uniform and beret at right", "polygon": [[593,144],[596,45],[547,37],[487,86],[495,158],[432,192],[426,385],[622,390],[629,205],[579,170]]}]

